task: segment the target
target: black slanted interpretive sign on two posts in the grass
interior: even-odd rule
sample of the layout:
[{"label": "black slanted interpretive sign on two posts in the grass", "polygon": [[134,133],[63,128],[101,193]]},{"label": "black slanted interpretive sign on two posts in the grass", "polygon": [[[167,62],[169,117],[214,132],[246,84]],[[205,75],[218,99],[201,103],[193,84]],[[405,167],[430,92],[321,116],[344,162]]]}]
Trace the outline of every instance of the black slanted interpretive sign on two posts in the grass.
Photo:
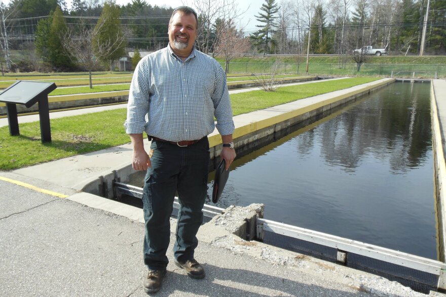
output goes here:
[{"label": "black slanted interpretive sign on two posts in the grass", "polygon": [[6,103],[11,136],[20,135],[16,104],[22,104],[29,108],[38,103],[42,143],[51,142],[48,94],[56,88],[54,82],[19,80],[0,94],[0,102]]}]

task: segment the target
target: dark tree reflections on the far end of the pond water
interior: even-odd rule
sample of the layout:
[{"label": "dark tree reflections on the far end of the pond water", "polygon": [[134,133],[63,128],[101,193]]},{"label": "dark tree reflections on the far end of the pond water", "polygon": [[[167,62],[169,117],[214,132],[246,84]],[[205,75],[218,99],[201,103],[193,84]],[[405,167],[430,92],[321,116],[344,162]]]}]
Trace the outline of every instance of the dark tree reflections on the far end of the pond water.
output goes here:
[{"label": "dark tree reflections on the far end of the pond water", "polygon": [[394,83],[311,132],[296,139],[300,154],[312,150],[316,137],[323,158],[347,172],[364,154],[388,159],[392,171],[405,172],[423,162],[431,147],[429,88]]}]

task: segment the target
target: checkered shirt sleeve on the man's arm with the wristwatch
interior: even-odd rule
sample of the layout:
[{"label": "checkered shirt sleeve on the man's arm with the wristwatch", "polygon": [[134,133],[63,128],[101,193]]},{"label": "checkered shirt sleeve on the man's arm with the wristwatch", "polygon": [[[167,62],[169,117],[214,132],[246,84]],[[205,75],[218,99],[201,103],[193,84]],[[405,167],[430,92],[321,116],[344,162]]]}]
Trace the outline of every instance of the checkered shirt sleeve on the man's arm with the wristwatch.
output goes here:
[{"label": "checkered shirt sleeve on the man's arm with the wristwatch", "polygon": [[232,119],[231,100],[229,98],[226,74],[220,64],[216,63],[215,89],[212,94],[214,103],[216,128],[220,135],[230,135],[234,133],[234,121]]}]

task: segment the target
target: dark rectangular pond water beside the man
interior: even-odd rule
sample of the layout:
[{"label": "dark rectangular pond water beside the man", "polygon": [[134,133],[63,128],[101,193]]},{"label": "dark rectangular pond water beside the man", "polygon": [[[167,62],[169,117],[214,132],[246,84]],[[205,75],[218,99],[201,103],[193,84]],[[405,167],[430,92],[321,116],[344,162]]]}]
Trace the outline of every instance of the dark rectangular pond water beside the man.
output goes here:
[{"label": "dark rectangular pond water beside the man", "polygon": [[429,84],[393,83],[237,159],[217,206],[437,259],[431,138]]}]

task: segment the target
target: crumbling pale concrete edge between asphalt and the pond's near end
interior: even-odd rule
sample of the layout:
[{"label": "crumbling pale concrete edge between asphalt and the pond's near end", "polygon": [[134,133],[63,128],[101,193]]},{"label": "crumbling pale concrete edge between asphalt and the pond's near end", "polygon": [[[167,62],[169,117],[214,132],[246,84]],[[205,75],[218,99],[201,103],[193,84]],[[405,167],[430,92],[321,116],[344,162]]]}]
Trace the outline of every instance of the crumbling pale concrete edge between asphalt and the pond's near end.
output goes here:
[{"label": "crumbling pale concrete edge between asphalt and the pond's near end", "polygon": [[[118,201],[89,193],[77,193],[66,199],[144,224],[142,209],[135,206],[122,204]],[[244,217],[252,218],[257,215],[255,213],[256,206],[251,204],[246,207],[228,207],[224,214],[217,215],[210,222],[201,226],[197,234],[197,239],[199,242],[209,244],[216,248],[230,250],[233,254],[238,254],[239,256],[266,261],[273,265],[286,266],[288,269],[297,273],[305,273],[318,277],[322,276],[327,281],[340,283],[357,289],[358,291],[392,296],[417,294],[408,287],[374,274],[291,252],[263,242],[246,241],[235,235],[234,233],[237,232],[233,232],[234,230],[239,231],[243,229],[240,227],[245,223],[243,220]],[[218,221],[219,223],[217,223]],[[227,224],[227,222],[230,223]],[[171,218],[170,230],[175,230],[175,228],[176,219]],[[377,287],[385,287],[386,292],[377,291]],[[436,292],[432,293],[439,296]]]}]

